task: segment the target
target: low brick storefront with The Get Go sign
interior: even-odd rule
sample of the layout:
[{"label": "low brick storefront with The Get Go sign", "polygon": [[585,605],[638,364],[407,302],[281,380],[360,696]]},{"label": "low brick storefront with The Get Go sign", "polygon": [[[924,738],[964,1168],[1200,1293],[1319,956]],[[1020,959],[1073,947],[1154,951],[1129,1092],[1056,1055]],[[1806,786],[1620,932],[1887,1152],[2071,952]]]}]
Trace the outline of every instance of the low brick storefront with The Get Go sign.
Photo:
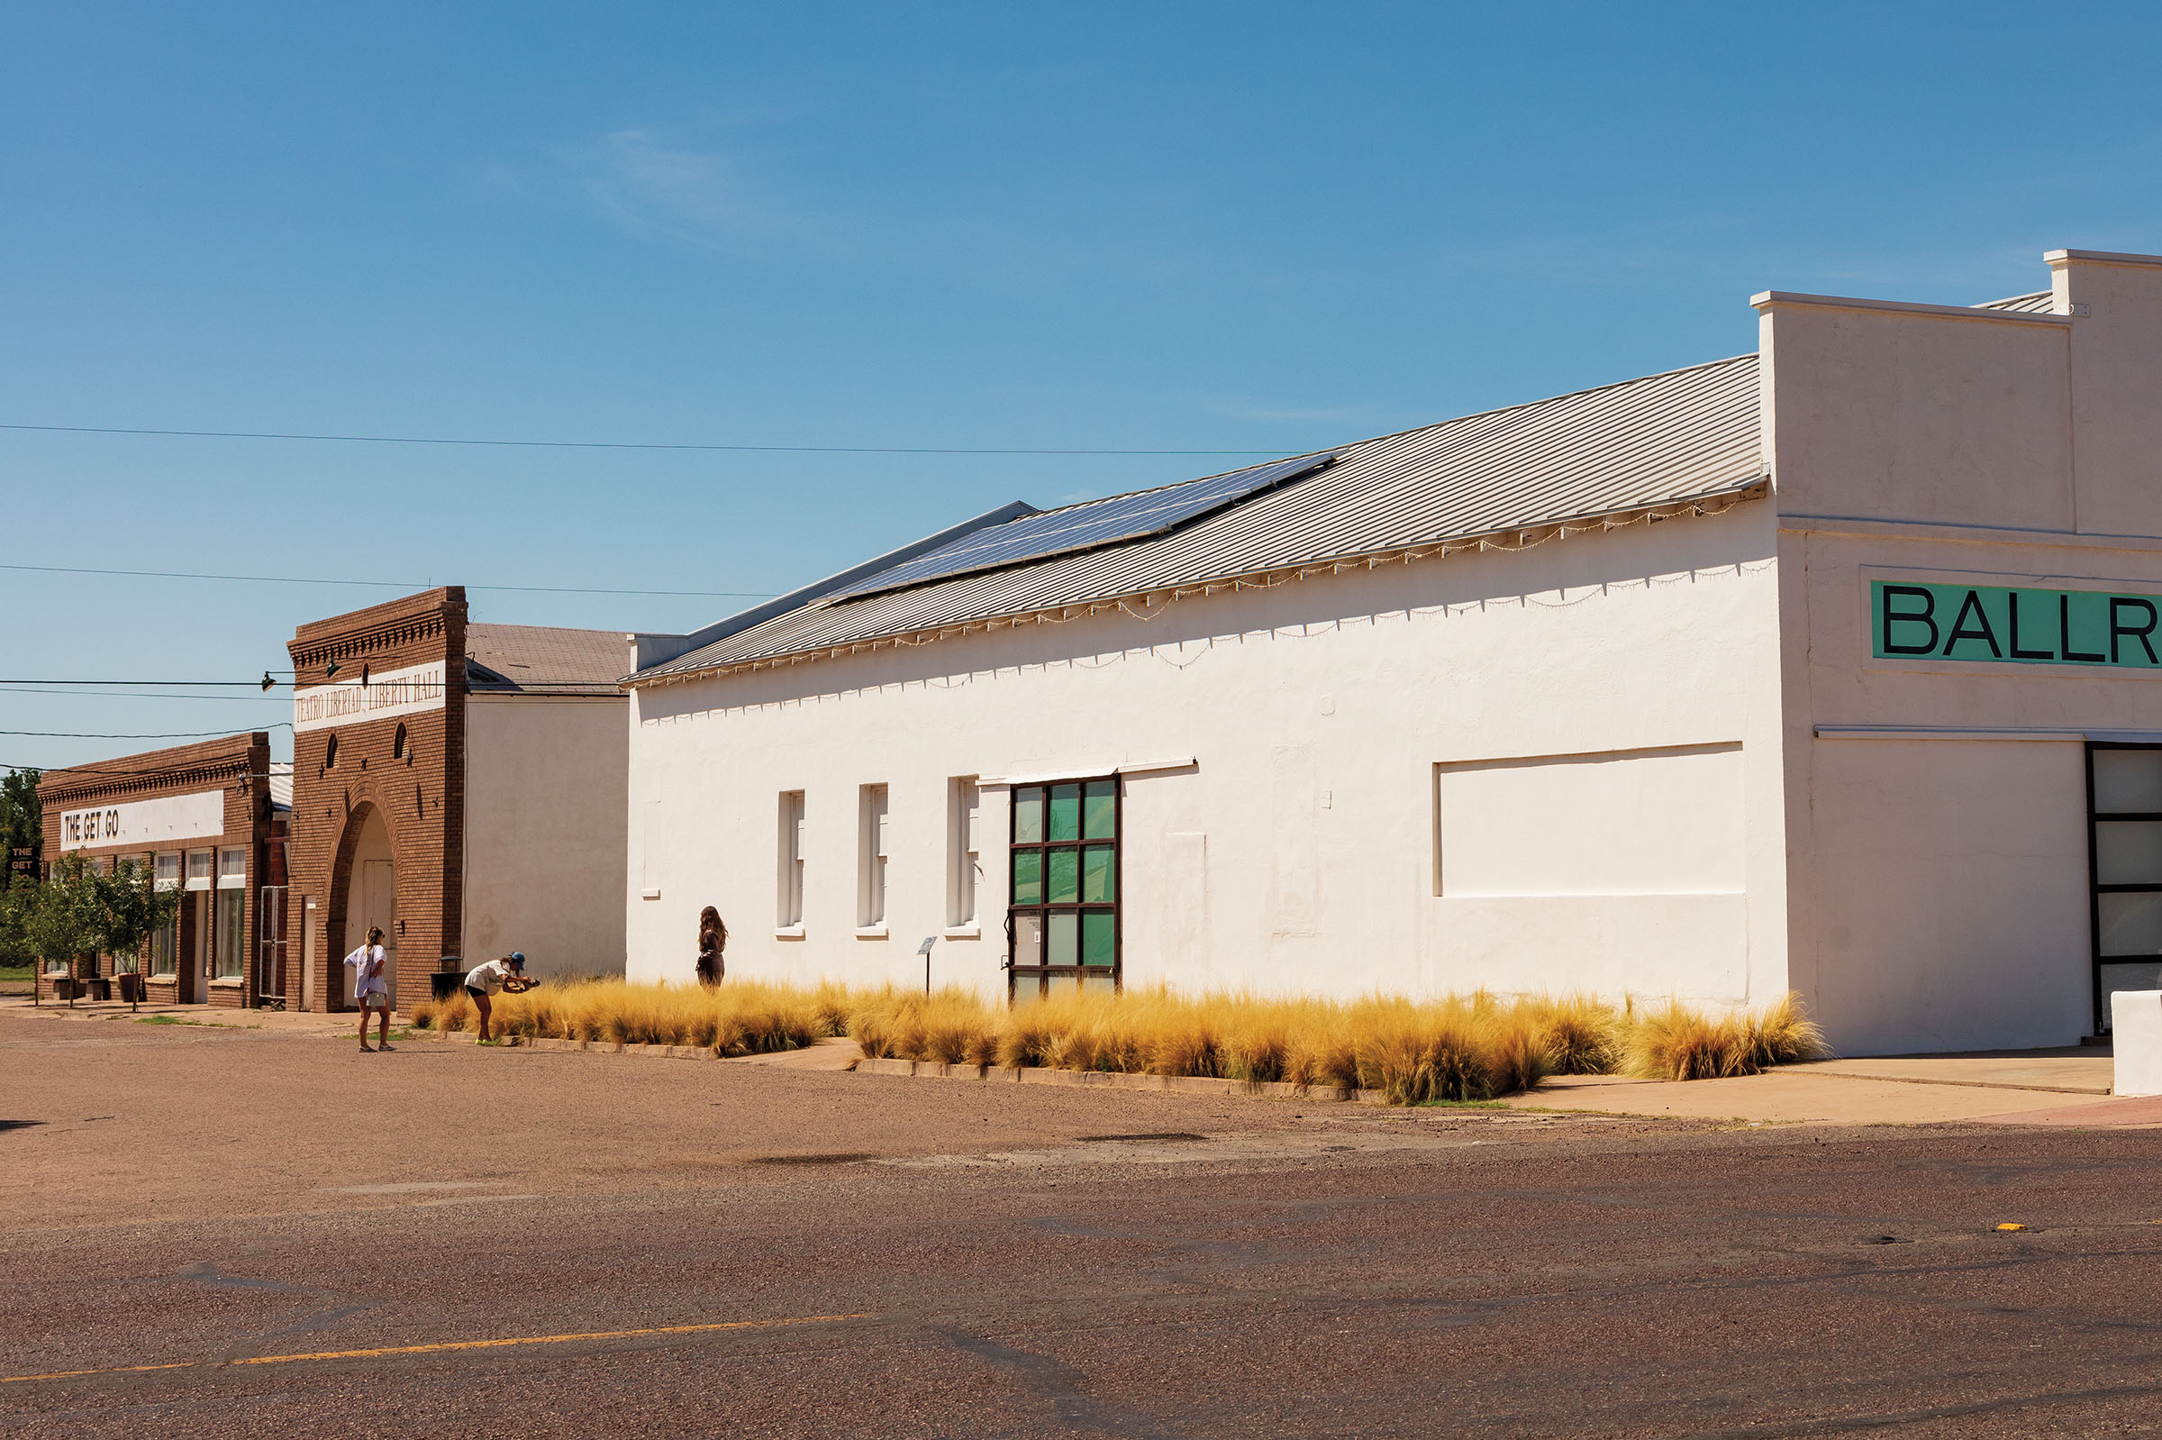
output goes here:
[{"label": "low brick storefront with The Get Go sign", "polygon": [[45,772],[37,800],[48,874],[78,852],[108,871],[134,861],[182,899],[179,917],[143,954],[50,958],[39,992],[112,992],[125,988],[115,977],[141,975],[151,1003],[277,1003],[285,809],[272,772],[264,731]]}]

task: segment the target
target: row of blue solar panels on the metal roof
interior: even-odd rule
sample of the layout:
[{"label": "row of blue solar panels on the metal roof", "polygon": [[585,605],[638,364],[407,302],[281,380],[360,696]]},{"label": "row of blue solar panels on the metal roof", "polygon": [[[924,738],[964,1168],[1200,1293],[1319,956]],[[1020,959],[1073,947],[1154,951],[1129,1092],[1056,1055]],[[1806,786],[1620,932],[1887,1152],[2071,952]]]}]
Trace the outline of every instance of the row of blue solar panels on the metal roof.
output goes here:
[{"label": "row of blue solar panels on the metal roof", "polygon": [[1165,530],[1174,530],[1215,515],[1217,510],[1226,510],[1241,499],[1252,499],[1263,491],[1273,491],[1291,484],[1293,480],[1304,480],[1306,476],[1327,469],[1334,463],[1334,452],[1302,454],[1289,461],[1269,461],[1267,465],[1235,469],[1224,476],[1165,484],[1155,491],[1137,491],[1133,495],[1113,495],[1111,499],[1066,506],[1064,510],[1023,515],[1020,519],[1005,521],[1003,525],[973,530],[951,545],[940,545],[930,554],[917,556],[915,560],[895,564],[891,571],[880,571],[869,579],[858,579],[845,590],[835,590],[830,599],[841,601],[856,599],[860,595],[880,595],[884,590],[921,586],[951,575],[973,575],[975,571],[997,571],[1007,564],[1049,560],[1051,556],[1064,556],[1079,549],[1146,541],[1163,534]]}]

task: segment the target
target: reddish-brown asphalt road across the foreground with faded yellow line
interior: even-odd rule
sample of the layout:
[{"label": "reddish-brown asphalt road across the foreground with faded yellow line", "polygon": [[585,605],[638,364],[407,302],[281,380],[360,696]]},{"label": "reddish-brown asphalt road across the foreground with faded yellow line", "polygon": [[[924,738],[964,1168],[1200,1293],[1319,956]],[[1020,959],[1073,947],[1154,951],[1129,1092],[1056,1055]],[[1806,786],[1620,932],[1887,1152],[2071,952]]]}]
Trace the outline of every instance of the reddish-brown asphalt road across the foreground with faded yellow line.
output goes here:
[{"label": "reddish-brown asphalt road across the foreground with faded yellow line", "polygon": [[2162,1429],[2151,1131],[348,1044],[0,1018],[0,1431]]}]

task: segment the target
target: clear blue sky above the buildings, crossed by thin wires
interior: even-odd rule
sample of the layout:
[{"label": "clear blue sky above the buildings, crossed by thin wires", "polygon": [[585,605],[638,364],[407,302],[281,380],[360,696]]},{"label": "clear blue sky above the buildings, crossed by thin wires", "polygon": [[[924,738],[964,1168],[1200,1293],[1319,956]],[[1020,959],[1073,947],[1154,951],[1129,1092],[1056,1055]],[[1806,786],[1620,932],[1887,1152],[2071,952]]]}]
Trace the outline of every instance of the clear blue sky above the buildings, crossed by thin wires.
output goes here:
[{"label": "clear blue sky above the buildings, crossed by thin wires", "polygon": [[[454,11],[454,13],[445,13]],[[0,422],[1291,452],[2162,251],[2151,6],[13,6]],[[1239,456],[0,430],[11,564],[685,629]],[[0,571],[0,679],[246,679],[396,590]],[[4,731],[279,698],[0,688]],[[281,746],[290,733],[279,731]],[[4,737],[0,765],[173,744]]]}]

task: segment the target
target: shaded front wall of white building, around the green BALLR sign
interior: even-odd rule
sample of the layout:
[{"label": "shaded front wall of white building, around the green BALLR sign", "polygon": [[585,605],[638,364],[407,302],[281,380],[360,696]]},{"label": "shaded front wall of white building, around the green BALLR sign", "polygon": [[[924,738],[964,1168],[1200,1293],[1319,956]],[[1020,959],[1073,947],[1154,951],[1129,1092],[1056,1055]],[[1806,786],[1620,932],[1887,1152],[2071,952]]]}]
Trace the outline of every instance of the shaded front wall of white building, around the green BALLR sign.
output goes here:
[{"label": "shaded front wall of white building, around the green BALLR sign", "polygon": [[2084,737],[2162,739],[2162,672],[1874,659],[1868,597],[2162,592],[2162,268],[2060,266],[2056,303],[1764,307],[1790,956],[1849,1053],[2093,1027]]}]

